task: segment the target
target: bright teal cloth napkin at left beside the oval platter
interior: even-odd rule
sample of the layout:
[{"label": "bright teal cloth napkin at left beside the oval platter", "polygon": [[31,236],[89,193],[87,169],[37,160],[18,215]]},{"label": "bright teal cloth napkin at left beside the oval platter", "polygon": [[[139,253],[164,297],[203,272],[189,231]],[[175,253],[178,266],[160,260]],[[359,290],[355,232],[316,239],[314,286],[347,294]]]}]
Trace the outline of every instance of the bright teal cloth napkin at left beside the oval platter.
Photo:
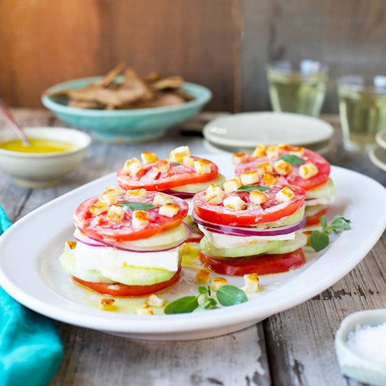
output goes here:
[{"label": "bright teal cloth napkin at left beside the oval platter", "polygon": [[[0,234],[10,226],[0,206]],[[47,385],[62,359],[53,321],[23,307],[0,287],[0,385]]]}]

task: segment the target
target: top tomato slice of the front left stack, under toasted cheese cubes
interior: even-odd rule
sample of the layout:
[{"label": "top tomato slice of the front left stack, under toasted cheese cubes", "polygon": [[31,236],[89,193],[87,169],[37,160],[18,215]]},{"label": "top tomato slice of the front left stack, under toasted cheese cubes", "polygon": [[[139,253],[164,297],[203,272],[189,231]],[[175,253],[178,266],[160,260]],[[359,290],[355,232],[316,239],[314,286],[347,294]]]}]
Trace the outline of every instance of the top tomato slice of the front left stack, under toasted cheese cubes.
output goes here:
[{"label": "top tomato slice of the front left stack, under toasted cheese cubes", "polygon": [[[118,203],[130,201],[151,204],[156,194],[157,192],[147,192],[146,197],[142,198],[127,197],[122,194],[118,197]],[[98,199],[99,197],[93,197],[92,199],[84,201],[76,208],[74,213],[74,224],[76,227],[78,227],[83,234],[86,234],[86,236],[98,241],[111,242],[146,239],[163,230],[180,225],[187,215],[188,209],[188,205],[184,200],[171,196],[174,204],[180,206],[178,213],[174,217],[170,218],[165,215],[159,215],[159,208],[157,207],[147,209],[146,213],[149,218],[149,224],[145,225],[145,227],[135,228],[132,223],[133,211],[131,209],[125,211],[123,220],[118,224],[107,220],[106,212],[100,215],[91,214],[90,207],[98,201]]]}]

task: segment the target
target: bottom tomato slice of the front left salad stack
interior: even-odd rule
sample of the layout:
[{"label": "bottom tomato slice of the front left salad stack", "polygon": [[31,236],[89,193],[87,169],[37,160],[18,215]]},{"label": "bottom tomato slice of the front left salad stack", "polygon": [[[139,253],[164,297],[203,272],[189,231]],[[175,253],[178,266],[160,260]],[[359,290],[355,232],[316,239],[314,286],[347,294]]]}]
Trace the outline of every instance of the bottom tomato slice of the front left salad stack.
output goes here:
[{"label": "bottom tomato slice of the front left salad stack", "polygon": [[181,267],[175,272],[175,275],[167,281],[161,283],[152,284],[151,286],[126,286],[126,284],[107,284],[107,283],[94,283],[93,281],[85,281],[78,277],[72,277],[72,280],[82,286],[85,286],[92,291],[102,293],[102,295],[111,296],[143,296],[150,293],[156,293],[165,288],[170,287],[180,278]]}]

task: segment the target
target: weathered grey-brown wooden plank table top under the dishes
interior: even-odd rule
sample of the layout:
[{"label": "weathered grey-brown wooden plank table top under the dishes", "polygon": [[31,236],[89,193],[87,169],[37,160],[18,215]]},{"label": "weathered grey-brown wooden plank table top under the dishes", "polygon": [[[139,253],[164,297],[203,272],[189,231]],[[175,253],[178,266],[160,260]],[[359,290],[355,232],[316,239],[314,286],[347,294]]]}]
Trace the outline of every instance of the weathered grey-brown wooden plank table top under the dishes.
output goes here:
[{"label": "weathered grey-brown wooden plank table top under the dishes", "polygon": [[[14,109],[22,126],[64,126],[43,109]],[[146,145],[93,142],[84,163],[62,184],[50,189],[22,189],[0,173],[0,204],[15,221],[34,208],[79,185],[115,171],[147,148],[167,156],[178,145],[206,152],[192,135],[215,113],[203,113],[167,138]],[[332,164],[352,168],[386,185],[386,173],[367,157],[342,149],[338,117],[323,117],[335,127]],[[1,128],[1,126],[0,126]],[[369,203],[369,210],[371,208]],[[190,342],[149,342],[118,338],[58,323],[65,359],[52,385],[358,385],[340,373],[333,339],[351,312],[386,307],[386,237],[333,287],[286,312],[244,331]]]}]

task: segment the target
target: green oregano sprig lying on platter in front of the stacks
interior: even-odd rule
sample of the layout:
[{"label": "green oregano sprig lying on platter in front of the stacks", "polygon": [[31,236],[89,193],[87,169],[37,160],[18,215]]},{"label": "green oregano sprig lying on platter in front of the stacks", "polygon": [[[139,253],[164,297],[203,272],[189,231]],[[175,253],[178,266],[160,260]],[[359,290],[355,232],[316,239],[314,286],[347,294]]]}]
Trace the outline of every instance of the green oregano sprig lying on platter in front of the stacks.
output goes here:
[{"label": "green oregano sprig lying on platter in front of the stacks", "polygon": [[228,307],[248,301],[244,291],[230,284],[218,288],[216,292],[217,300],[211,296],[211,288],[209,286],[199,286],[198,291],[199,294],[197,296],[184,296],[170,302],[165,307],[165,314],[185,314],[199,310],[212,310],[213,308],[218,308],[218,303]]}]

